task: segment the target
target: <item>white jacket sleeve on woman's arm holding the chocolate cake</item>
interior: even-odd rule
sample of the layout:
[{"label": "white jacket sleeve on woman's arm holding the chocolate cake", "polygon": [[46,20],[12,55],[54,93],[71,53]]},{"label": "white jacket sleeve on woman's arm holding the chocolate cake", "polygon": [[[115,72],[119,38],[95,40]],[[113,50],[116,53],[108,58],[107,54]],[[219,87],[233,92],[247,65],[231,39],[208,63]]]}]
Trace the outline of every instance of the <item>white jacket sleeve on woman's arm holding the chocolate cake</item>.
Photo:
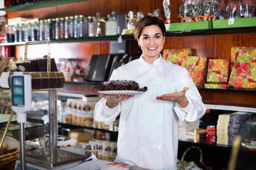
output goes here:
[{"label": "white jacket sleeve on woman's arm holding the chocolate cake", "polygon": [[[110,76],[110,80],[118,79],[117,71],[114,70]],[[102,97],[101,100],[97,102],[94,109],[94,118],[96,121],[104,122],[106,125],[112,123],[118,114],[121,112],[121,102],[117,107],[110,109],[106,105],[106,99]]]}]

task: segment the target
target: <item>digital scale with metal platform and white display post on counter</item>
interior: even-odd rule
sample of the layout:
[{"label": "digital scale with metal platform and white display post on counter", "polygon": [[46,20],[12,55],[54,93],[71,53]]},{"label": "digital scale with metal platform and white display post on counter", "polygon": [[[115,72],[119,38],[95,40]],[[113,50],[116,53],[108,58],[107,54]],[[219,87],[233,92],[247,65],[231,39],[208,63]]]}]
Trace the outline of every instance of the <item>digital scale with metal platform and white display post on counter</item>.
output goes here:
[{"label": "digital scale with metal platform and white display post on counter", "polygon": [[63,169],[85,160],[85,155],[57,149],[56,90],[49,90],[50,147],[25,153],[24,124],[27,120],[26,112],[31,110],[31,91],[30,75],[16,72],[11,76],[11,107],[17,114],[20,139],[20,160],[16,162],[15,169]]}]

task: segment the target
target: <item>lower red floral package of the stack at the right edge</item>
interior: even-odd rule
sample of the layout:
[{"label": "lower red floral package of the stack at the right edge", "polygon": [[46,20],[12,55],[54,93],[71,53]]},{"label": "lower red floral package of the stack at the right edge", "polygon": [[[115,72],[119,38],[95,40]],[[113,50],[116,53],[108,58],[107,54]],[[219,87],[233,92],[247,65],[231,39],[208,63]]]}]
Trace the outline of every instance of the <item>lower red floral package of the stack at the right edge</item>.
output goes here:
[{"label": "lower red floral package of the stack at the right edge", "polygon": [[234,63],[228,86],[256,88],[256,62]]}]

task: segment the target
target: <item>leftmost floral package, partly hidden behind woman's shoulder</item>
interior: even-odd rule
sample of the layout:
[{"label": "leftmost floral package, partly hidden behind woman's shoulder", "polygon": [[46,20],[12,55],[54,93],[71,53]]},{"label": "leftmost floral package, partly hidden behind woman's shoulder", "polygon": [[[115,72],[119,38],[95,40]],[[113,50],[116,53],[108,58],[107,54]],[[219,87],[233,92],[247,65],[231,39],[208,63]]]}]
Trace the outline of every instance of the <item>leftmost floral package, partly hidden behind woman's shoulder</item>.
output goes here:
[{"label": "leftmost floral package, partly hidden behind woman's shoulder", "polygon": [[176,65],[181,65],[183,57],[191,56],[191,49],[164,49],[163,59],[175,63]]}]

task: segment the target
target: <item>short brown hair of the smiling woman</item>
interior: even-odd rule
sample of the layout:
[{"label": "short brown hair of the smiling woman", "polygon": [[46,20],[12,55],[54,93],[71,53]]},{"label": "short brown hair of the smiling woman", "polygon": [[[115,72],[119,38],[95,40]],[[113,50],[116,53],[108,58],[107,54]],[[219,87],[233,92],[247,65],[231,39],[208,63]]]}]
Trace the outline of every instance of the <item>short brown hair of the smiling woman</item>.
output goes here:
[{"label": "short brown hair of the smiling woman", "polygon": [[141,37],[142,29],[146,26],[150,25],[158,25],[158,27],[161,29],[163,36],[166,35],[166,27],[164,26],[164,23],[162,20],[156,16],[144,16],[139,22],[136,24],[134,29],[134,37],[136,40]]}]

